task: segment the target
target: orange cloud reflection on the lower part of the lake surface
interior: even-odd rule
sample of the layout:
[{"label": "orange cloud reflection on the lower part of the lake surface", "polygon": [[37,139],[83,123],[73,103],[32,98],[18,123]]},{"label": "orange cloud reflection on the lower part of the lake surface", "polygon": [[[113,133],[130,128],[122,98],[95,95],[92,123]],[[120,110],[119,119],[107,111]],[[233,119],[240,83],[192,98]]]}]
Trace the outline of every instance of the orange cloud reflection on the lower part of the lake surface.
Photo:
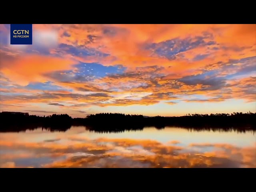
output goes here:
[{"label": "orange cloud reflection on the lower part of the lake surface", "polygon": [[256,168],[256,143],[191,143],[173,140],[70,136],[43,142],[2,137],[0,167],[38,168]]}]

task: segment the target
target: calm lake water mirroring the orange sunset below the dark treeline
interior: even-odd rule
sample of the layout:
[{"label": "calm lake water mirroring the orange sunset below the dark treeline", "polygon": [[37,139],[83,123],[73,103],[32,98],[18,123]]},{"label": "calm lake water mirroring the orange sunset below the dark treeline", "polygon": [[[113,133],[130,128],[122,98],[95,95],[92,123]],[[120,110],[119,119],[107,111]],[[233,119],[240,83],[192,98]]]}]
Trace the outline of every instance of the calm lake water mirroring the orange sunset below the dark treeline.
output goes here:
[{"label": "calm lake water mirroring the orange sunset below the dark treeline", "polygon": [[1,168],[256,168],[255,131],[176,127],[0,133]]}]

